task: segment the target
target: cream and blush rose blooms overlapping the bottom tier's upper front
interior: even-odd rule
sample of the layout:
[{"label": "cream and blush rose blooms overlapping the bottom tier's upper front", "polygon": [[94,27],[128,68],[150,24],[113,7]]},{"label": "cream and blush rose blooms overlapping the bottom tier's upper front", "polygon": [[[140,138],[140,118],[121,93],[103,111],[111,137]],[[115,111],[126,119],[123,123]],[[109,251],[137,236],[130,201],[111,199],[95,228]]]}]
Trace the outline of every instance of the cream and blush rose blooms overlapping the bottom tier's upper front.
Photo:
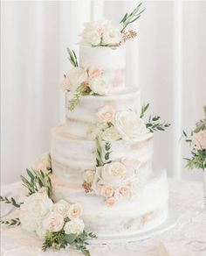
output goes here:
[{"label": "cream and blush rose blooms overlapping the bottom tier's upper front", "polygon": [[95,171],[86,170],[84,181],[91,184],[96,195],[104,196],[106,206],[112,207],[116,202],[138,196],[144,188],[146,177],[138,172],[140,163],[122,159]]}]

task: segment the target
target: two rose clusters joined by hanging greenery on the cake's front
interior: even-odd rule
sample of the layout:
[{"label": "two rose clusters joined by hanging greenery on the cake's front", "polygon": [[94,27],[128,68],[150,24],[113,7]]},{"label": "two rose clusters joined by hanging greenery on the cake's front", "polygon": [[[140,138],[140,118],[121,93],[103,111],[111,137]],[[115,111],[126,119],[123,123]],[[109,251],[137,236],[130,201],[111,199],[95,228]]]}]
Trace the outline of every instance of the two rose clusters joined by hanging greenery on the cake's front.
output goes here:
[{"label": "two rose clusters joined by hanging greenery on the cake's front", "polygon": [[139,171],[141,161],[127,157],[118,161],[110,159],[113,141],[135,142],[170,126],[159,123],[159,116],[149,116],[145,124],[142,118],[148,106],[143,105],[139,116],[134,110],[115,111],[113,106],[106,105],[97,111],[98,123],[88,131],[87,139],[96,142],[96,168],[84,172],[82,186],[86,194],[103,196],[108,207],[139,196],[147,180]]}]

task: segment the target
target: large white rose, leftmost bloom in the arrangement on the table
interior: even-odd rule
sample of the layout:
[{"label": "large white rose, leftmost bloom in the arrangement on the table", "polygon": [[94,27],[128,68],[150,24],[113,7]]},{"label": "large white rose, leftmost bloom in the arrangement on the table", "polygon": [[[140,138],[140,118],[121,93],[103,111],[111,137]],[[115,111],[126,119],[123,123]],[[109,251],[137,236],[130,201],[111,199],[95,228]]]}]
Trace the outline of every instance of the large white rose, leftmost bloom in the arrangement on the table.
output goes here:
[{"label": "large white rose, leftmost bloom in the arrangement on the table", "polygon": [[52,211],[52,200],[45,193],[35,193],[26,197],[23,208],[32,219],[42,219]]}]

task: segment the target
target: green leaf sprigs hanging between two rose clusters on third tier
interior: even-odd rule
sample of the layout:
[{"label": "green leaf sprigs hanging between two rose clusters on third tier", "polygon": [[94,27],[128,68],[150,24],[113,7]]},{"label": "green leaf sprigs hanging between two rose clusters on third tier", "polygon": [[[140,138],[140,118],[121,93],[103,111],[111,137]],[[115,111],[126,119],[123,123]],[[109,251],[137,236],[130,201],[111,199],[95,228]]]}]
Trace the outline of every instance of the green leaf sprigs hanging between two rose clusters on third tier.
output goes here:
[{"label": "green leaf sprigs hanging between two rose clusters on third tier", "polygon": [[102,151],[102,147],[100,145],[100,138],[96,138],[96,167],[103,167],[106,164],[109,164],[112,162],[112,160],[110,159],[110,153],[112,153],[111,151],[111,143],[106,141],[105,143],[105,148],[104,148],[104,155],[103,155],[103,151]]}]

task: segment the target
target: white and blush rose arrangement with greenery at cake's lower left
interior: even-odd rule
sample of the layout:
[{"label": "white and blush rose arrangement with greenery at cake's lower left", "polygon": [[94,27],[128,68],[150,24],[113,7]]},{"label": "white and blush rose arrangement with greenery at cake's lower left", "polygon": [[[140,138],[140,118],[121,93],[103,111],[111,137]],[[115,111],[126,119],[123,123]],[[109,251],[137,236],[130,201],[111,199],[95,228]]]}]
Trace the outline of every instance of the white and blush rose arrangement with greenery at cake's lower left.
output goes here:
[{"label": "white and blush rose arrangement with greenery at cake's lower left", "polygon": [[0,223],[8,226],[21,224],[25,231],[35,232],[44,241],[43,251],[48,248],[65,249],[71,245],[89,256],[87,240],[96,238],[96,235],[85,231],[85,224],[80,218],[81,206],[65,200],[54,203],[52,199],[50,154],[42,155],[26,172],[28,177],[21,176],[23,186],[28,189],[24,202],[0,196],[0,202],[10,203],[19,210],[19,217],[1,220]]}]

